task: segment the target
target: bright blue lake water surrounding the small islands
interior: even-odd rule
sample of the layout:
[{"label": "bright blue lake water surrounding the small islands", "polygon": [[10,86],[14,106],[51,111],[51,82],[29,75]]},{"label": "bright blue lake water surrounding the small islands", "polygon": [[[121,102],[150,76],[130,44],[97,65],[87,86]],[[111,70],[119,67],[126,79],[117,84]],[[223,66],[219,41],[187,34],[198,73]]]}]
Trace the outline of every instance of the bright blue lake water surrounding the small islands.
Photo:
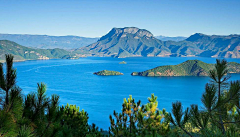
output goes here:
[{"label": "bright blue lake water surrounding the small islands", "polygon": [[[147,102],[154,93],[159,108],[171,110],[172,102],[179,100],[184,107],[201,104],[208,77],[141,77],[131,72],[144,71],[160,65],[175,65],[189,59],[215,63],[214,58],[81,58],[79,60],[39,60],[17,62],[18,85],[24,94],[36,91],[37,83],[47,84],[47,94],[60,95],[61,104],[76,104],[89,114],[89,122],[100,128],[109,127],[109,115],[121,111],[123,98],[133,95],[136,101]],[[240,63],[240,59],[227,59]],[[119,64],[126,61],[127,64]],[[100,70],[116,70],[123,76],[96,76]],[[232,74],[232,80],[240,74]]]}]

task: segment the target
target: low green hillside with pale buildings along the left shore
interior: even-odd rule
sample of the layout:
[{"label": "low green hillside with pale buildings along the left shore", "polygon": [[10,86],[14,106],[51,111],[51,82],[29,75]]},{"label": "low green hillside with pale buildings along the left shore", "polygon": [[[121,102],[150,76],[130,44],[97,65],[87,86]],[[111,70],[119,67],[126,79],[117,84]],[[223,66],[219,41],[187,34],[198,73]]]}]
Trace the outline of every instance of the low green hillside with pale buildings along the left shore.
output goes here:
[{"label": "low green hillside with pale buildings along the left shore", "polygon": [[77,55],[64,49],[33,49],[21,46],[8,40],[0,40],[0,61],[5,60],[5,54],[14,55],[15,61],[37,59],[74,59]]}]

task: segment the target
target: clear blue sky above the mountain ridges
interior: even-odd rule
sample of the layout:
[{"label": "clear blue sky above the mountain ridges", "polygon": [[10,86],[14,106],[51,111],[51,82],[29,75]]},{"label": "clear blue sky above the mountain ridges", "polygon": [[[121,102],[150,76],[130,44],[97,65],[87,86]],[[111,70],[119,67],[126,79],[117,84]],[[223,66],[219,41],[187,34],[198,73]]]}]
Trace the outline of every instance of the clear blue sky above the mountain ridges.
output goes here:
[{"label": "clear blue sky above the mountain ridges", "polygon": [[240,33],[240,0],[0,0],[0,33],[99,37],[113,27],[153,35]]}]

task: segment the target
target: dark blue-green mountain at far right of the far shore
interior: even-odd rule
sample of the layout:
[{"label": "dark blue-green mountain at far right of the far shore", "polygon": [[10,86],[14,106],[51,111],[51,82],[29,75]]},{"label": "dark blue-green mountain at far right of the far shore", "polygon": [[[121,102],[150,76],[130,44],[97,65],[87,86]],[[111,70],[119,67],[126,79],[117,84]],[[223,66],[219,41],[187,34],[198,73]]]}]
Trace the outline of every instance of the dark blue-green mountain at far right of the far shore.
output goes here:
[{"label": "dark blue-green mountain at far right of the far shore", "polygon": [[192,42],[203,52],[201,57],[240,58],[240,35],[205,35],[196,33],[186,41]]}]

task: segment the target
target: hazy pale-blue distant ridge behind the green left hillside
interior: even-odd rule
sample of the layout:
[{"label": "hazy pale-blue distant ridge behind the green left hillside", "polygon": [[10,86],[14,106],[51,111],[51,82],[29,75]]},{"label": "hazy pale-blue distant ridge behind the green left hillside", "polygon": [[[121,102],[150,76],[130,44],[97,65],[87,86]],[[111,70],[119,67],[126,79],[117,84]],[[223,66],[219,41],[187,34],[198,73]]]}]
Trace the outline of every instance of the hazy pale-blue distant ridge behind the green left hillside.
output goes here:
[{"label": "hazy pale-blue distant ridge behind the green left hillside", "polygon": [[43,49],[76,49],[92,44],[98,38],[86,38],[79,36],[48,36],[48,35],[27,35],[27,34],[0,34],[0,40],[14,41],[20,45],[43,48]]}]

